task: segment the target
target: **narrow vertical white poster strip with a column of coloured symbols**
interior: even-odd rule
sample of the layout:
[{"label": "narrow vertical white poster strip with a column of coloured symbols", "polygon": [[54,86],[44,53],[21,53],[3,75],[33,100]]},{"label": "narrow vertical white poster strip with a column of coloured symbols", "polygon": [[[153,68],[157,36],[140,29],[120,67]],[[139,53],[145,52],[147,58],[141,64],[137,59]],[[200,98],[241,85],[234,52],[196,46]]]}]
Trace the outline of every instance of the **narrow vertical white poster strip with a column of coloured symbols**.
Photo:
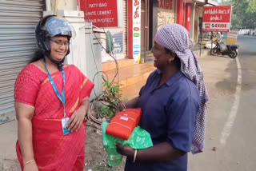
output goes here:
[{"label": "narrow vertical white poster strip with a column of coloured symbols", "polygon": [[133,57],[141,62],[141,0],[133,0]]}]

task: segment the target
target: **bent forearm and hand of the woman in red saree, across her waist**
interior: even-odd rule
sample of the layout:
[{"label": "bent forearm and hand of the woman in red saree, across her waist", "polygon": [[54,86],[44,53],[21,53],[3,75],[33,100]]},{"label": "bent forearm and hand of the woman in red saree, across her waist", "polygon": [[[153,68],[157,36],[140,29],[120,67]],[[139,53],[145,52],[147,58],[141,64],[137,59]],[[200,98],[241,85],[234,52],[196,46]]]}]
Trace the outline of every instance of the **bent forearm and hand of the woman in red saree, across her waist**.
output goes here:
[{"label": "bent forearm and hand of the woman in red saree, across her waist", "polygon": [[78,131],[78,129],[80,129],[82,122],[85,119],[86,113],[89,109],[89,105],[89,97],[85,97],[82,100],[80,107],[74,111],[74,113],[70,117],[70,122],[68,124],[68,128],[71,132]]}]

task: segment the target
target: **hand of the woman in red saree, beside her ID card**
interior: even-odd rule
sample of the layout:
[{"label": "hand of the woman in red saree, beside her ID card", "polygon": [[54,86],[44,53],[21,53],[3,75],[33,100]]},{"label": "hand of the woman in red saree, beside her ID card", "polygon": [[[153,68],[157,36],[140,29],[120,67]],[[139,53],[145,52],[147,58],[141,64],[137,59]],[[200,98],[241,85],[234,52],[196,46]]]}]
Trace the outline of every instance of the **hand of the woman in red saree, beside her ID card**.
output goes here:
[{"label": "hand of the woman in red saree, beside her ID card", "polygon": [[86,115],[86,109],[82,108],[82,106],[75,110],[72,116],[70,117],[70,121],[68,123],[68,129],[73,131],[78,131],[78,129],[81,127],[82,122],[85,119]]}]

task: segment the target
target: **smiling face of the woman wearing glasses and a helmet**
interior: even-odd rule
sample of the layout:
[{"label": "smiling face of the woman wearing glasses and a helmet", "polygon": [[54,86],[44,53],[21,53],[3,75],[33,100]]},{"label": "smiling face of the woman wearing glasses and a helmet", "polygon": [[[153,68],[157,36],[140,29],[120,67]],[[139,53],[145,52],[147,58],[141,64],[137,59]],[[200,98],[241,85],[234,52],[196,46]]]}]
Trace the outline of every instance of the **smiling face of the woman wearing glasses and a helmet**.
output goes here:
[{"label": "smiling face of the woman wearing glasses and a helmet", "polygon": [[51,58],[54,58],[58,62],[62,61],[69,49],[69,44],[70,42],[66,36],[54,36],[50,38]]}]

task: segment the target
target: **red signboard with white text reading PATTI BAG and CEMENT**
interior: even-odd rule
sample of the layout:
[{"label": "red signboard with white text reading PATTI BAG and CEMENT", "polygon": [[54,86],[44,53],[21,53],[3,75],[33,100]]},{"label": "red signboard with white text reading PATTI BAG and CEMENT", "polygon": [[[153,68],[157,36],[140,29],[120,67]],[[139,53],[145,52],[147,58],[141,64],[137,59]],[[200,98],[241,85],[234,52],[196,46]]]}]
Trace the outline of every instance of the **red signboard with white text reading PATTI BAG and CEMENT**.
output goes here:
[{"label": "red signboard with white text reading PATTI BAG and CEMENT", "polygon": [[94,26],[118,26],[117,0],[81,0],[81,10]]}]

